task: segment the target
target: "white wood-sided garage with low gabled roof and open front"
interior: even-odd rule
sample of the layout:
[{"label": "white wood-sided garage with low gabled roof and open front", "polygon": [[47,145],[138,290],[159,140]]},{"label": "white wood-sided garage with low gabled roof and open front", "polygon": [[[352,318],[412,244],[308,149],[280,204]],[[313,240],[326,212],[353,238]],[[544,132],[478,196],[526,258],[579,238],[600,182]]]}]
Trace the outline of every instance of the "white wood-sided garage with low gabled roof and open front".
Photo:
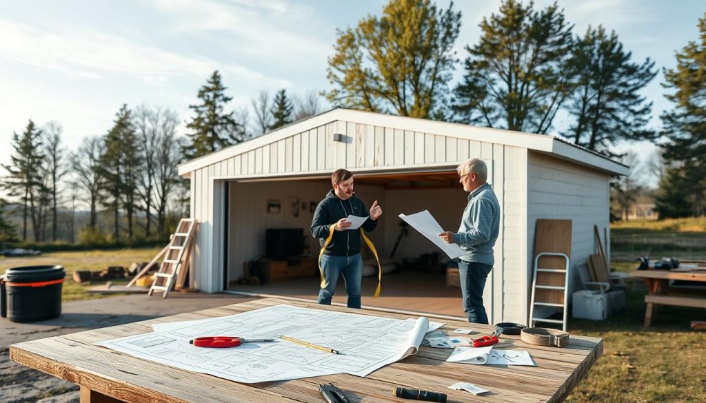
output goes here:
[{"label": "white wood-sided garage with low gabled roof and open front", "polygon": [[[609,176],[628,168],[552,136],[340,108],[179,166],[191,178],[191,217],[200,223],[191,285],[227,290],[244,262],[265,253],[265,229],[309,234],[309,207],[341,167],[354,172],[368,205],[379,200],[385,210],[371,233],[381,255],[395,245],[401,212],[429,210],[443,228],[457,229],[467,193],[455,169],[469,157],[488,163],[502,209],[484,295],[489,318],[527,323],[535,222],[572,219],[572,267],[585,262],[594,253],[594,224],[609,227]],[[436,250],[416,233],[405,242],[398,260]],[[311,237],[309,246],[318,252]],[[572,289],[578,281],[572,275]]]}]

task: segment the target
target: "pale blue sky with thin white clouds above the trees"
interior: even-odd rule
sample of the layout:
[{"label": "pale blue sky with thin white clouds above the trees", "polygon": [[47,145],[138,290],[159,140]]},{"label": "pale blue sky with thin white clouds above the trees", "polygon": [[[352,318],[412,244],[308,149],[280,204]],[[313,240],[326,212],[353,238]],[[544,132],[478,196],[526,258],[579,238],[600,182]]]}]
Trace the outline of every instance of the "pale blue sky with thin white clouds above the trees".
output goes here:
[{"label": "pale blue sky with thin white clouds above the trees", "polygon": [[[380,14],[387,1],[124,0],[6,1],[0,13],[0,138],[8,141],[28,119],[59,121],[69,148],[102,135],[121,104],[174,109],[189,104],[210,73],[222,72],[233,107],[249,106],[261,90],[302,95],[328,89],[327,58],[336,28]],[[438,1],[442,7],[448,1]],[[544,8],[551,1],[535,1]],[[575,34],[588,25],[615,30],[633,61],[650,57],[674,66],[674,52],[698,39],[706,6],[699,1],[560,1]],[[499,0],[456,1],[462,11],[457,56],[479,38],[478,24]],[[458,80],[462,75],[457,66]],[[664,100],[662,73],[643,91],[654,102],[652,126]],[[556,126],[566,124],[559,118]],[[181,128],[183,133],[183,126]],[[623,146],[623,149],[628,146]],[[631,145],[643,155],[651,145]],[[0,150],[0,163],[10,148]]]}]

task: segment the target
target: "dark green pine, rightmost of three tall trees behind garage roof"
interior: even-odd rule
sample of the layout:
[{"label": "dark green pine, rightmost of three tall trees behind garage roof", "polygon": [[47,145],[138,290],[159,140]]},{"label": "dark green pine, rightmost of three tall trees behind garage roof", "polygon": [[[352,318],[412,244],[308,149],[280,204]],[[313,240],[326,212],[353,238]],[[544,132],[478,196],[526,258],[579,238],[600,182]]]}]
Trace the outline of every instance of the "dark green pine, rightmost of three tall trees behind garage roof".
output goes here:
[{"label": "dark green pine, rightmost of three tall trees behind garage roof", "polygon": [[620,140],[654,140],[647,130],[652,102],[639,94],[657,74],[654,61],[630,62],[631,52],[615,32],[599,25],[576,37],[569,62],[576,74],[576,88],[568,102],[575,119],[564,136],[575,144],[616,157],[611,146]]}]

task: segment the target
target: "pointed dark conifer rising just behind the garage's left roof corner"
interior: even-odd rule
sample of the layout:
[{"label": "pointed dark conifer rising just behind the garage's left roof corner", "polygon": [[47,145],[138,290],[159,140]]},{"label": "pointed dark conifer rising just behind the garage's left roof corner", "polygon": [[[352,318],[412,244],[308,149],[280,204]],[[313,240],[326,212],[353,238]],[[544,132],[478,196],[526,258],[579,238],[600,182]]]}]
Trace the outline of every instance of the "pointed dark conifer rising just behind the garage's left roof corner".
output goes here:
[{"label": "pointed dark conifer rising just behind the garage's left roof corner", "polygon": [[198,90],[200,104],[189,105],[196,116],[186,124],[189,143],[184,145],[187,158],[201,157],[227,145],[245,140],[245,128],[234,117],[234,112],[225,112],[225,106],[233,97],[225,95],[225,87],[218,71],[214,71],[206,84]]}]

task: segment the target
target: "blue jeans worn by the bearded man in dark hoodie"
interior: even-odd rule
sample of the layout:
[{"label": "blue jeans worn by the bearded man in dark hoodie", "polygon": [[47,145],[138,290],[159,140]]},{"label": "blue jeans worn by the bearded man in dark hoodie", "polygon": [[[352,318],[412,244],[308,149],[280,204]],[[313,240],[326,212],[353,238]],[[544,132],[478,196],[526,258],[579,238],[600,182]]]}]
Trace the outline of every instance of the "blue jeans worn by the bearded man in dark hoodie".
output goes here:
[{"label": "blue jeans worn by the bearded man in dark hoodie", "polygon": [[360,283],[363,277],[363,258],[360,253],[352,256],[323,255],[321,270],[326,287],[318,291],[318,303],[331,304],[338,276],[342,274],[348,292],[348,308],[360,309]]}]

